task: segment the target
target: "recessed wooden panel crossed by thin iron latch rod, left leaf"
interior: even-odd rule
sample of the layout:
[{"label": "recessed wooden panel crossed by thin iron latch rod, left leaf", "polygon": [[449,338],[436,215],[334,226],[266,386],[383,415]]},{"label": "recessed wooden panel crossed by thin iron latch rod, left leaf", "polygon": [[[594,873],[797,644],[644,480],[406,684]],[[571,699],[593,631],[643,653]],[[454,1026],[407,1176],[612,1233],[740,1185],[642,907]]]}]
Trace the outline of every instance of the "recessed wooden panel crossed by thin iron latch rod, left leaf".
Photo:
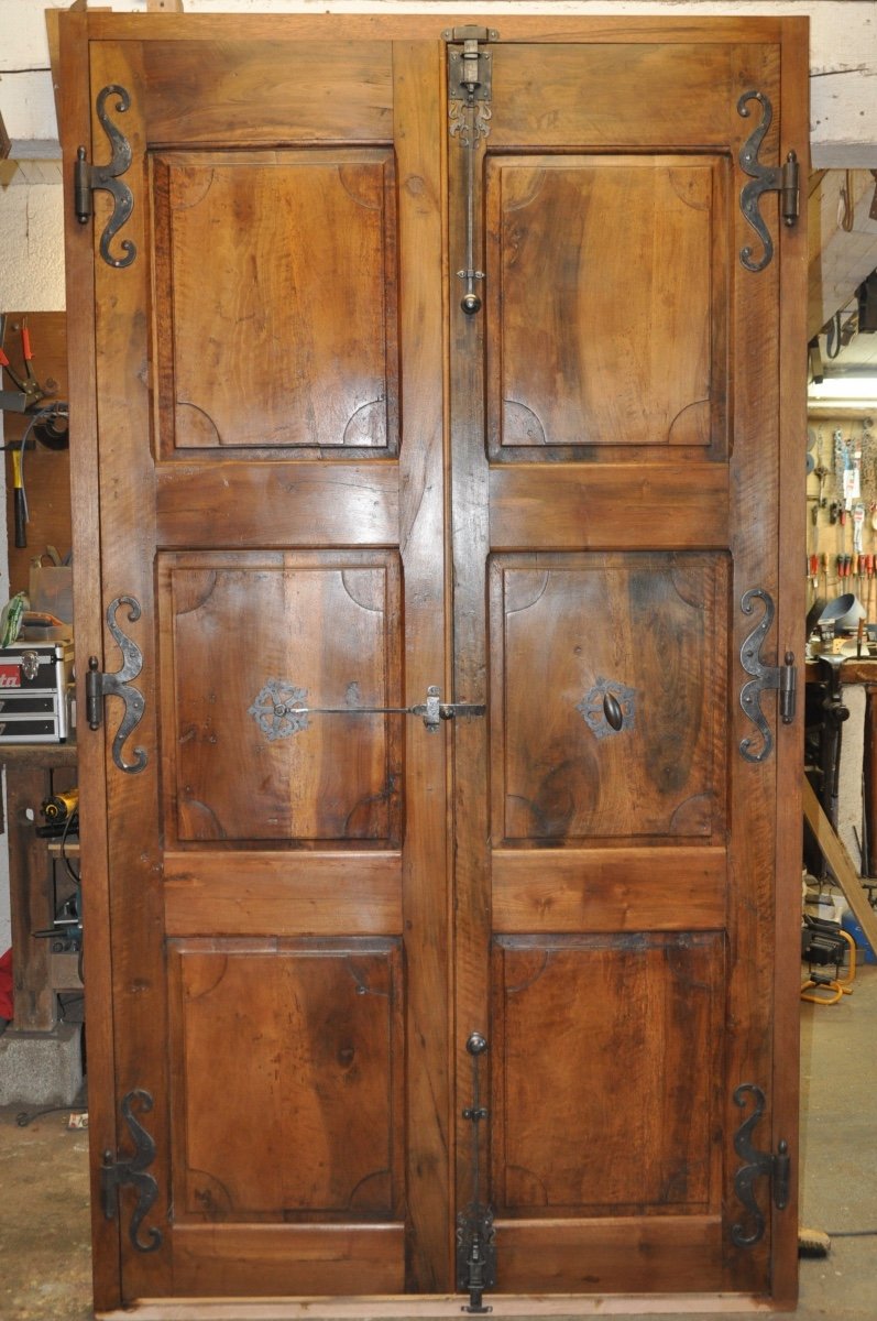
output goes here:
[{"label": "recessed wooden panel crossed by thin iron latch rod, left leaf", "polygon": [[357,712],[402,704],[400,589],[386,552],[162,560],[172,838],[399,845],[400,717]]}]

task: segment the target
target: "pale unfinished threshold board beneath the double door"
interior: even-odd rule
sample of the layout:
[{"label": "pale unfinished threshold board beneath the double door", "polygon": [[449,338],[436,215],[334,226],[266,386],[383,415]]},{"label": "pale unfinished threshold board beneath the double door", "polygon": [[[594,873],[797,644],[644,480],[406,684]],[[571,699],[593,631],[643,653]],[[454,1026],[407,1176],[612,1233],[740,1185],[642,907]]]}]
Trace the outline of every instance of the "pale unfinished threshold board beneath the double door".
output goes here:
[{"label": "pale unfinished threshold board beneath the double door", "polygon": [[[143,1299],[111,1312],[95,1312],[98,1321],[296,1321],[347,1317],[460,1317],[465,1295],[420,1295],[338,1299]],[[749,1293],[593,1293],[502,1295],[485,1297],[493,1317],[667,1316],[691,1312],[775,1312],[769,1299]]]}]

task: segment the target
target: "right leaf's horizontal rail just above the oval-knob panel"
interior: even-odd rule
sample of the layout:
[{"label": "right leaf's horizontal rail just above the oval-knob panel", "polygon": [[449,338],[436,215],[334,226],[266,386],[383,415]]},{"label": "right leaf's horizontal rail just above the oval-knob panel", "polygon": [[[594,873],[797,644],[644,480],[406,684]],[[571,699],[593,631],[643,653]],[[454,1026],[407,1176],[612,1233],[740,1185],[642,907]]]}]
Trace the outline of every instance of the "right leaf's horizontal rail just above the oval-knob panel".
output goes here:
[{"label": "right leaf's horizontal rail just above the oval-knob panel", "polygon": [[[724,548],[729,539],[724,464],[506,464],[490,473],[493,550],[590,550],[618,542],[613,495],[622,489],[637,517],[625,548]],[[551,509],[545,520],[544,510]]]}]

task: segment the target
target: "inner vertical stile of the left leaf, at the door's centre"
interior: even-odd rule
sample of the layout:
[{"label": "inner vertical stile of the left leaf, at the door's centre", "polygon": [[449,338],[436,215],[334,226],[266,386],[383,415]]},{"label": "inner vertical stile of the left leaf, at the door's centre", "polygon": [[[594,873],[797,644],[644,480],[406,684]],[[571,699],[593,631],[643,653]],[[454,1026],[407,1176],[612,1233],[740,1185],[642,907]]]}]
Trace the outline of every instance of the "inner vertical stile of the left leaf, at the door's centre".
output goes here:
[{"label": "inner vertical stile of the left leaf, at the door's centre", "polygon": [[[394,45],[395,140],[403,271],[399,542],[404,573],[405,701],[445,684],[445,383],[440,48]],[[417,415],[415,420],[415,407]],[[442,688],[442,694],[444,694]],[[450,894],[446,852],[446,727],[405,723],[408,785],[403,926],[408,972],[407,1287],[444,1292],[450,1258]],[[428,1122],[427,1122],[428,1116]]]}]

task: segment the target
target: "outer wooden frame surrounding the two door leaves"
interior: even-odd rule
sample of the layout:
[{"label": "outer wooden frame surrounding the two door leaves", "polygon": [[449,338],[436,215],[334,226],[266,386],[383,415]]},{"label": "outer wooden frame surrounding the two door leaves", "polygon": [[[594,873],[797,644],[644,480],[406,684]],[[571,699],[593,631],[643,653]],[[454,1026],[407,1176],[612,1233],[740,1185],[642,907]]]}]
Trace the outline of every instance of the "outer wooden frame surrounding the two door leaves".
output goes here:
[{"label": "outer wooden frame surrounding the two door leaves", "polygon": [[[334,36],[338,24],[345,25],[347,38],[362,40],[433,40],[441,44],[442,28],[454,18],[440,12],[412,16],[398,15],[289,15],[247,17],[248,36],[276,40],[280,33],[291,38],[313,36]],[[469,17],[469,16],[468,16]],[[490,25],[495,15],[473,15],[469,21]],[[73,161],[79,144],[91,141],[91,104],[88,81],[82,78],[87,69],[88,42],[91,40],[169,40],[205,38],[215,34],[234,40],[239,34],[239,16],[232,15],[160,15],[149,16],[148,22],[140,15],[112,15],[104,12],[67,11],[59,15],[61,26],[61,96],[62,123],[61,139],[65,160],[65,214],[73,211]],[[501,24],[501,40],[532,42],[553,42],[576,37],[596,42],[643,42],[672,41],[678,38],[688,44],[715,40],[740,44],[773,42],[782,48],[783,70],[807,69],[807,18],[744,17],[708,20],[675,17],[551,17],[505,16]],[[782,151],[795,149],[804,164],[808,124],[806,106],[799,95],[795,78],[782,81]],[[806,227],[783,231],[777,244],[777,260],[781,271],[781,469],[779,469],[779,565],[781,592],[778,600],[777,651],[794,650],[799,659],[802,639],[799,621],[803,618],[803,579],[796,572],[800,560],[803,538],[803,507],[799,498],[799,440],[806,425],[804,394],[804,354],[806,343],[806,276],[807,239]],[[100,530],[98,486],[94,480],[98,462],[96,428],[96,362],[95,362],[95,305],[94,305],[94,263],[91,226],[66,227],[66,280],[67,308],[71,322],[75,318],[77,333],[70,336],[70,406],[74,419],[74,445],[77,462],[71,472],[73,493],[73,534],[75,544],[75,598],[77,598],[77,675],[78,707],[85,712],[85,674],[88,657],[103,657],[103,608],[100,579]],[[796,359],[796,354],[799,358]],[[798,365],[798,362],[800,365]],[[782,641],[779,641],[782,639]],[[112,658],[107,658],[112,668]],[[777,775],[779,791],[777,848],[775,848],[775,935],[777,958],[774,966],[774,1028],[777,1037],[798,1041],[798,982],[799,982],[799,840],[800,840],[800,794],[799,766],[802,717],[777,732]],[[85,875],[88,885],[83,886],[85,922],[92,931],[110,930],[110,890],[108,890],[108,849],[107,849],[107,802],[104,785],[107,777],[104,740],[91,737],[81,721],[79,766],[82,793],[82,849]],[[88,1044],[90,1044],[90,1112],[94,1140],[100,1147],[115,1151],[118,1139],[116,1115],[114,1107],[114,1059],[115,1042],[112,1018],[102,1008],[112,999],[112,948],[99,942],[88,946],[87,959],[87,1001]],[[456,1041],[456,1037],[454,1037]],[[798,1122],[798,1054],[796,1046],[787,1048],[783,1061],[774,1052],[773,1078],[773,1123],[774,1143],[781,1137],[791,1139],[794,1184],[796,1184],[796,1141],[791,1135]],[[96,1166],[92,1162],[92,1170]],[[770,1305],[774,1309],[790,1309],[796,1299],[796,1217],[795,1190],[790,1210],[773,1217],[774,1235],[774,1292]],[[95,1306],[110,1313],[120,1301],[119,1267],[119,1223],[107,1221],[100,1210],[96,1173],[92,1176],[92,1236],[95,1244],[94,1288]],[[630,1300],[631,1303],[634,1300]],[[662,1299],[666,1309],[667,1299]],[[682,1296],[675,1300],[679,1310],[705,1310],[708,1300]],[[645,1306],[639,1300],[639,1306]],[[600,1301],[576,1300],[576,1310],[588,1314],[600,1309]],[[733,1299],[711,1299],[709,1310],[746,1310],[752,1306],[763,1310],[765,1300],[745,1296]],[[149,1316],[198,1316],[210,1317],[221,1312],[221,1304],[166,1304],[145,1308],[140,1312]],[[412,1314],[458,1314],[460,1297],[446,1299],[404,1299],[382,1300],[380,1310],[386,1316]],[[359,1316],[374,1312],[362,1303],[333,1304],[288,1304],[283,1314],[297,1316]],[[519,1304],[514,1305],[520,1312]],[[545,1301],[526,1303],[524,1310],[557,1314],[569,1312],[569,1303]],[[119,1316],[129,1316],[128,1310]],[[267,1314],[265,1306],[252,1304],[240,1310],[240,1316]],[[273,1308],[273,1316],[277,1309]]]}]

